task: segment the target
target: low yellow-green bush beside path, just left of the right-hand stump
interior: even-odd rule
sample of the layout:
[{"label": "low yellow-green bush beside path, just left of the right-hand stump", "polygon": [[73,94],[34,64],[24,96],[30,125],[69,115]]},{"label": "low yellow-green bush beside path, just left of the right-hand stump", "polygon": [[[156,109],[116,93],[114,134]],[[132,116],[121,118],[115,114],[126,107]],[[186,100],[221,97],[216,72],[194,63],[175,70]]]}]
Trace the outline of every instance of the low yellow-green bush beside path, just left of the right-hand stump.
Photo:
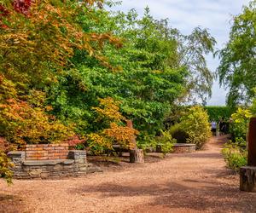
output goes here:
[{"label": "low yellow-green bush beside path, just left of the right-hand stump", "polygon": [[247,151],[234,143],[227,143],[222,150],[227,166],[239,172],[241,166],[247,165]]}]

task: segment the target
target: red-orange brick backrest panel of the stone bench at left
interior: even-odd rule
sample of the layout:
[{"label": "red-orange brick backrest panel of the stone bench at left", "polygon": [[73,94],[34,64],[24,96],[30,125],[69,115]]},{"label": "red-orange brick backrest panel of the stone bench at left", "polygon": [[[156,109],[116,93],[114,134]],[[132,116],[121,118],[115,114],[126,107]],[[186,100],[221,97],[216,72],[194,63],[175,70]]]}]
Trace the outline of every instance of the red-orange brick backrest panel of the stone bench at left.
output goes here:
[{"label": "red-orange brick backrest panel of the stone bench at left", "polygon": [[26,145],[26,160],[67,159],[68,144]]}]

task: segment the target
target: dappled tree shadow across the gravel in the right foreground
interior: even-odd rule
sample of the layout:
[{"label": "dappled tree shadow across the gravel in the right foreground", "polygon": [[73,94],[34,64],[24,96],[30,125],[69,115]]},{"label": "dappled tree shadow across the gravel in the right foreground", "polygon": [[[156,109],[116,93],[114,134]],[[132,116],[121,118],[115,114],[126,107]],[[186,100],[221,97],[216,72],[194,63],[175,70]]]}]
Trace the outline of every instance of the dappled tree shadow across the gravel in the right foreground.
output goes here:
[{"label": "dappled tree shadow across the gravel in the right foreground", "polygon": [[104,183],[96,187],[75,188],[70,193],[80,193],[85,197],[90,196],[91,193],[100,193],[100,199],[140,196],[148,196],[153,199],[146,205],[131,207],[132,212],[137,210],[148,212],[151,207],[158,206],[169,210],[186,208],[192,211],[213,210],[213,212],[255,212],[256,209],[255,194],[242,193],[238,187],[217,185],[213,181],[183,180],[147,186]]}]

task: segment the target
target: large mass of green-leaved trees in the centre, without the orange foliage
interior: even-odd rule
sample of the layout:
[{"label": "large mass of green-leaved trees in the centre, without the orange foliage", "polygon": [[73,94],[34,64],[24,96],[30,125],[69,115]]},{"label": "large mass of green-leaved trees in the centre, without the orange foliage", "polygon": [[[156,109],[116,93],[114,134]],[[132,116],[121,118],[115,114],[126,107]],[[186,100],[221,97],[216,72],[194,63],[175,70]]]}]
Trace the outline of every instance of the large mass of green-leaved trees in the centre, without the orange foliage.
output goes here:
[{"label": "large mass of green-leaved trees in the centre, without the orange foliage", "polygon": [[[108,31],[122,38],[122,49],[108,44],[102,49],[102,55],[119,69],[109,72],[86,52],[77,50],[72,59],[75,69],[49,89],[49,103],[57,118],[75,120],[77,131],[83,134],[96,131],[91,107],[97,106],[97,98],[110,96],[121,101],[120,111],[141,133],[139,141],[154,138],[175,101],[191,96],[193,89],[209,90],[212,74],[202,55],[212,51],[214,39],[199,28],[193,35],[183,36],[169,28],[166,20],[154,20],[148,9],[142,18],[135,10],[94,13],[95,20],[81,14],[79,21],[84,32]],[[198,60],[201,62],[195,63]]]}]

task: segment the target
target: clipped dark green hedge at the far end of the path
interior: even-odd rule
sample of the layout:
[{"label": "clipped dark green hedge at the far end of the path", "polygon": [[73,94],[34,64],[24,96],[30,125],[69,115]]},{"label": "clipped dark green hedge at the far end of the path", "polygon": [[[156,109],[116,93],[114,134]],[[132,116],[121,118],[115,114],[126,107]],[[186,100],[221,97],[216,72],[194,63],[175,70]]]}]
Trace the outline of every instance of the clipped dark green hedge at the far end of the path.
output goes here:
[{"label": "clipped dark green hedge at the far end of the path", "polygon": [[230,107],[207,106],[204,108],[209,115],[210,121],[218,122],[220,118],[229,119],[233,113]]}]

